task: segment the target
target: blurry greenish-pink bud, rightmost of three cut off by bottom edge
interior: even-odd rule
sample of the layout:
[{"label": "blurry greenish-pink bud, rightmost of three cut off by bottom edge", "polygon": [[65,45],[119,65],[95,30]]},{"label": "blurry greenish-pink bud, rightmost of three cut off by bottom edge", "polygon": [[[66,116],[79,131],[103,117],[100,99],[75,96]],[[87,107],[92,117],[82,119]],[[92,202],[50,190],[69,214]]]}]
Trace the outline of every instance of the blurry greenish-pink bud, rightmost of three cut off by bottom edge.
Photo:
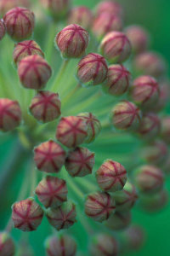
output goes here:
[{"label": "blurry greenish-pink bud, rightmost of three cut off by bottom edge", "polygon": [[108,234],[94,236],[90,245],[90,255],[92,256],[117,256],[118,243],[115,237]]}]

